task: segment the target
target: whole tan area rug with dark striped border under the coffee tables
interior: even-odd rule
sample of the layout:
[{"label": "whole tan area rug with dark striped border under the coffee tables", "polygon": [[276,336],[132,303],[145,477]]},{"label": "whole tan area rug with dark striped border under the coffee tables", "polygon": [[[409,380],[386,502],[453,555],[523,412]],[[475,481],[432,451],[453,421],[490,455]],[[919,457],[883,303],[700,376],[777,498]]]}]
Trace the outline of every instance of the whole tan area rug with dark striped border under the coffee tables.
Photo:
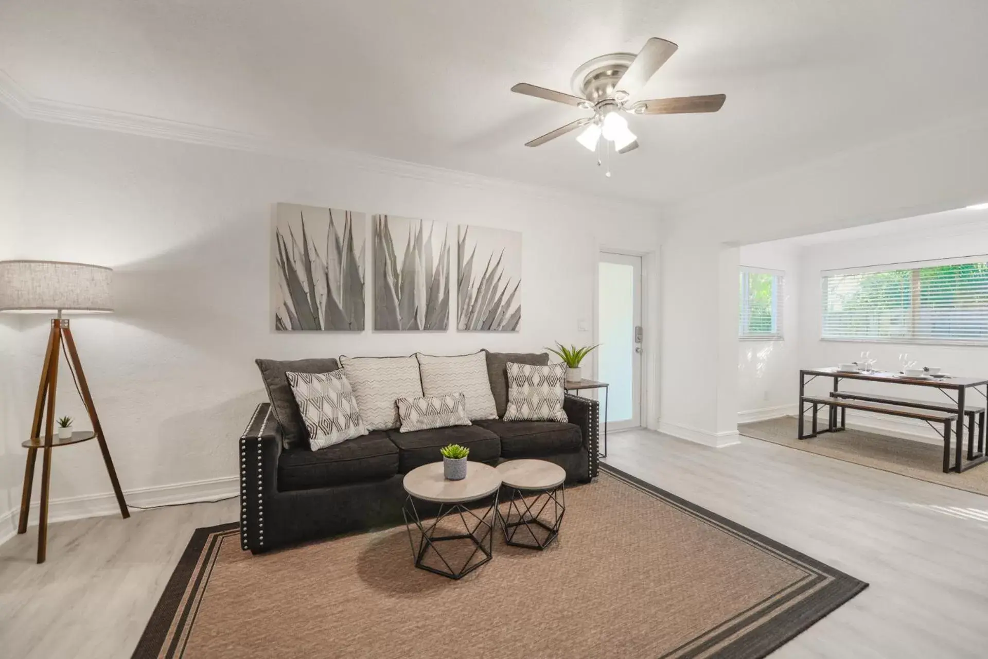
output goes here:
[{"label": "whole tan area rug with dark striped border under the coffee tables", "polygon": [[268,554],[200,529],[134,657],[762,657],[867,584],[608,466],[557,541],[460,581],[404,527]]}]

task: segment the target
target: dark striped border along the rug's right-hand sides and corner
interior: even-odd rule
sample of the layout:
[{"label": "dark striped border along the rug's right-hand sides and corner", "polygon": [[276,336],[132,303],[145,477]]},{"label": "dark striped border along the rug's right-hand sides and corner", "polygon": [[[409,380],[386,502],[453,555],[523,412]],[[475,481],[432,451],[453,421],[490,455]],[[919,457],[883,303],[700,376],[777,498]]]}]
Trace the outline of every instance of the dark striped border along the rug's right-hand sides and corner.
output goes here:
[{"label": "dark striped border along the rug's right-hand sides and corner", "polygon": [[820,592],[809,596],[804,601],[789,608],[768,622],[760,624],[754,629],[742,634],[710,655],[711,657],[722,657],[724,659],[759,659],[765,657],[819,620],[847,604],[868,586],[866,582],[807,556],[801,551],[796,551],[792,547],[786,546],[771,537],[754,532],[725,517],[712,513],[691,501],[678,497],[646,480],[632,476],[615,466],[605,462],[601,462],[600,466],[601,470],[609,475],[634,483],[638,487],[660,498],[667,499],[739,535],[744,535],[756,542],[770,546],[779,553],[805,563],[816,571],[834,579],[834,581],[824,587]]}]

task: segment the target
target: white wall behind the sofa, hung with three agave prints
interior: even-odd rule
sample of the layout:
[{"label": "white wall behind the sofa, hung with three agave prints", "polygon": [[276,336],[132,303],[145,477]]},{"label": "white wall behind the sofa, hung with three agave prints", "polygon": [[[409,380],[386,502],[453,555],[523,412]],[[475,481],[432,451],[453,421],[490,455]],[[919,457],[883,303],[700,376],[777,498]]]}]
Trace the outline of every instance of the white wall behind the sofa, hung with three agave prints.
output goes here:
[{"label": "white wall behind the sofa, hung with three agave prints", "polygon": [[[304,161],[39,122],[28,133],[31,222],[21,251],[116,270],[117,313],[72,322],[131,492],[182,484],[191,485],[169,496],[235,490],[237,440],[265,399],[255,358],[589,342],[577,321],[593,325],[599,248],[658,249],[657,214],[642,206],[356,156]],[[522,231],[521,332],[274,333],[268,287],[277,202],[428,217],[453,230],[462,222]],[[25,322],[31,369],[41,368],[46,331],[43,318]],[[82,417],[71,380],[59,385],[59,413]],[[109,491],[95,447],[56,455],[53,496],[70,499],[53,507],[56,515],[112,511]]]}]

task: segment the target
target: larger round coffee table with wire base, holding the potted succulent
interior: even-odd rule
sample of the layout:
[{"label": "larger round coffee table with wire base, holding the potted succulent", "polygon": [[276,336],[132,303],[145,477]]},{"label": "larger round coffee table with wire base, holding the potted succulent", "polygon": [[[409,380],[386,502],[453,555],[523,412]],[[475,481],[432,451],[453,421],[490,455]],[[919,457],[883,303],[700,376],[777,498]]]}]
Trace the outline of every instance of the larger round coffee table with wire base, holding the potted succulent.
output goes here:
[{"label": "larger round coffee table with wire base, holding the potted succulent", "polygon": [[[405,516],[405,528],[412,555],[415,557],[415,567],[451,579],[461,579],[491,559],[494,555],[498,491],[501,488],[501,476],[494,467],[483,462],[467,462],[466,478],[446,480],[443,476],[443,462],[432,462],[405,474],[403,484],[408,496],[405,498],[402,514]],[[490,504],[478,516],[473,510],[476,502],[488,497],[491,498]],[[419,504],[417,508],[416,499],[439,504],[439,510],[428,504]],[[422,519],[420,509],[427,513],[428,519]],[[456,531],[461,525],[462,533],[448,533],[451,522],[457,527]],[[444,553],[440,551],[440,545],[444,542],[450,542],[448,546],[451,547],[455,543],[460,550],[445,550]],[[464,544],[467,545],[465,551],[461,550]],[[469,548],[471,545],[472,551]],[[433,554],[439,560],[430,565],[426,559]]]}]

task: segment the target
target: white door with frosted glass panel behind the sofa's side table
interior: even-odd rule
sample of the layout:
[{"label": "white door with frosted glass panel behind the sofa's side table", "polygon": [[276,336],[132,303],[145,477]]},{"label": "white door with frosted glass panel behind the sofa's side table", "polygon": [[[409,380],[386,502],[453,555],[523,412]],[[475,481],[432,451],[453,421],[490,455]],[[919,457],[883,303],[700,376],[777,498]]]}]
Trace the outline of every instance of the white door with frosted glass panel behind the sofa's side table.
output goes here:
[{"label": "white door with frosted glass panel behind the sofa's side table", "polygon": [[641,425],[641,257],[602,253],[598,286],[597,371],[611,384],[608,428],[636,428]]}]

